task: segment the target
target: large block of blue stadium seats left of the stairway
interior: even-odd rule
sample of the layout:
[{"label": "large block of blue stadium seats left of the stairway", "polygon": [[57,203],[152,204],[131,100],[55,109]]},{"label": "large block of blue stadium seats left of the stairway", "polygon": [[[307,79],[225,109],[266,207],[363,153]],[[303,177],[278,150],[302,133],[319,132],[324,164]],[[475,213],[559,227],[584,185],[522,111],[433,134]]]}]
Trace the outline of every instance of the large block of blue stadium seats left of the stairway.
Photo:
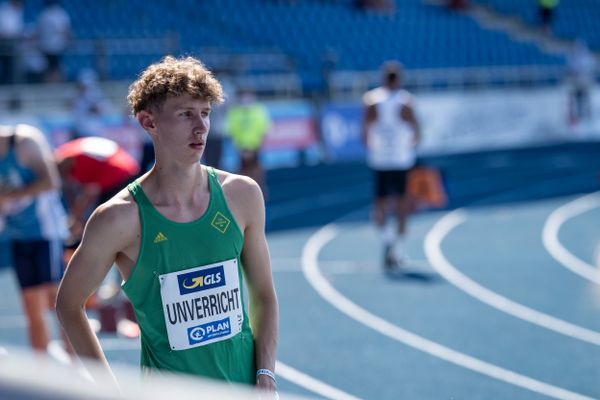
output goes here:
[{"label": "large block of blue stadium seats left of the stairway", "polygon": [[[26,20],[41,3],[26,3]],[[62,3],[78,39],[66,57],[71,79],[91,66],[105,78],[130,79],[170,52],[195,54],[217,72],[242,76],[297,71],[308,92],[323,88],[326,69],[375,70],[390,58],[402,59],[409,69],[563,63],[532,43],[482,28],[466,14],[419,0],[397,0],[390,13],[364,11],[350,1],[221,0],[219,7],[185,0],[110,0],[106,7],[92,0]]]}]

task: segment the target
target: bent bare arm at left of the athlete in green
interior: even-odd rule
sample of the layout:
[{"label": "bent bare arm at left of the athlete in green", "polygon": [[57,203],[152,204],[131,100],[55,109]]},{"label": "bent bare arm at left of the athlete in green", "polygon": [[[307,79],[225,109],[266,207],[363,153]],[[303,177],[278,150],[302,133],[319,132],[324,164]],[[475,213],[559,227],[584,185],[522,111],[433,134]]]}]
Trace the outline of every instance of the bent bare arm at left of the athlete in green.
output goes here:
[{"label": "bent bare arm at left of the athlete in green", "polygon": [[[60,283],[56,311],[62,327],[82,360],[95,360],[104,367],[97,380],[112,376],[96,334],[90,328],[85,303],[100,286],[117,255],[131,241],[131,206],[111,201],[90,217],[80,246],[71,258]],[[92,373],[93,374],[93,373]]]}]

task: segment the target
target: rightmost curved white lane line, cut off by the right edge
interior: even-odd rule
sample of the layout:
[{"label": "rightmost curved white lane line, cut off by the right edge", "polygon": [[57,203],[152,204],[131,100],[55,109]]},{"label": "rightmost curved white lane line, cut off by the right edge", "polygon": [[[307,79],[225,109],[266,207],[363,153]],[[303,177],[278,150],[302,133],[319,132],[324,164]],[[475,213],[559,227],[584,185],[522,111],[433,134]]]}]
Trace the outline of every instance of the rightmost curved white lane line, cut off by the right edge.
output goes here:
[{"label": "rightmost curved white lane line, cut off by the right edge", "polygon": [[548,253],[564,267],[600,285],[600,269],[577,258],[558,240],[558,231],[565,221],[597,207],[600,207],[600,192],[588,194],[557,208],[544,224],[542,242]]}]

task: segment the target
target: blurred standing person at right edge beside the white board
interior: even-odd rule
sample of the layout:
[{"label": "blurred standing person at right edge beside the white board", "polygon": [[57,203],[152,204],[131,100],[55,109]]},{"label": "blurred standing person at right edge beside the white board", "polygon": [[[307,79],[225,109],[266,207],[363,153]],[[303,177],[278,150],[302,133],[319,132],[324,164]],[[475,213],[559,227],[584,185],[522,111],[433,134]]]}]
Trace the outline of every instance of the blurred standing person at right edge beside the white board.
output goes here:
[{"label": "blurred standing person at right edge beside the white board", "polygon": [[577,41],[567,58],[569,108],[573,123],[592,116],[590,92],[596,82],[596,58],[583,41]]}]

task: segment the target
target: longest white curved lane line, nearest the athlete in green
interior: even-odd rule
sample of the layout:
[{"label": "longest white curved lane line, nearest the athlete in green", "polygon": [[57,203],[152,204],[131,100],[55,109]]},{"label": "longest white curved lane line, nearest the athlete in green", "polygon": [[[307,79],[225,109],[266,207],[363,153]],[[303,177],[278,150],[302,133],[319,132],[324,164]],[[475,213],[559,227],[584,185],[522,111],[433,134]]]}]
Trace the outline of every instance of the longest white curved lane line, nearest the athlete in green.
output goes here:
[{"label": "longest white curved lane line, nearest the athlete in green", "polygon": [[329,281],[325,279],[319,270],[319,252],[321,248],[323,248],[327,242],[333,239],[336,235],[337,229],[335,226],[327,225],[311,236],[302,251],[302,267],[306,280],[317,291],[317,293],[348,317],[381,333],[382,335],[388,336],[408,346],[414,347],[415,349],[431,354],[434,357],[441,358],[455,365],[479,372],[483,375],[487,375],[511,385],[519,386],[532,392],[541,393],[555,399],[592,399],[591,397],[538,381],[528,376],[518,374],[514,371],[487,363],[478,358],[471,357],[467,354],[460,353],[439,343],[404,330],[354,304],[352,301],[338,292],[329,283]]}]

